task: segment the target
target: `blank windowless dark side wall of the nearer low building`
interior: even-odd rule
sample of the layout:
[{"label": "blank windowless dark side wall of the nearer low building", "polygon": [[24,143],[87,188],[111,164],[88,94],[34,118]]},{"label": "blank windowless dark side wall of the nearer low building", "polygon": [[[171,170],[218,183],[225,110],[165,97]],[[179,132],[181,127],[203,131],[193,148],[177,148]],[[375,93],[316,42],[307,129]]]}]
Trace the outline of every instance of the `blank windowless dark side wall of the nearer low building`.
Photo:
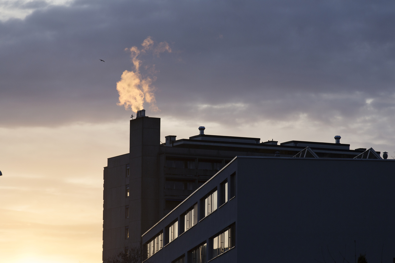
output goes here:
[{"label": "blank windowless dark side wall of the nearer low building", "polygon": [[239,262],[392,262],[394,161],[237,160]]}]

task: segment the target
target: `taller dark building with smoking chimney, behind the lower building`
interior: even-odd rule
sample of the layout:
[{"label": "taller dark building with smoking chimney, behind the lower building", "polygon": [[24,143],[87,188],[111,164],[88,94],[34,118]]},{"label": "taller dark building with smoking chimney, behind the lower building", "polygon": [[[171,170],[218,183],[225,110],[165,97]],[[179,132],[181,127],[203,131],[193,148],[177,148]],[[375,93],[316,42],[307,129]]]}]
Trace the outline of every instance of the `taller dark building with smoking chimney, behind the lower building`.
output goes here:
[{"label": "taller dark building with smoking chimney, behind the lower building", "polygon": [[[109,158],[103,171],[103,260],[140,245],[143,233],[235,156],[293,157],[304,151],[303,157],[350,159],[367,151],[340,143],[278,145],[260,138],[207,135],[204,127],[189,139],[166,136],[162,144],[160,118],[138,116],[130,121],[130,152]],[[368,157],[379,154],[371,149]]]}]

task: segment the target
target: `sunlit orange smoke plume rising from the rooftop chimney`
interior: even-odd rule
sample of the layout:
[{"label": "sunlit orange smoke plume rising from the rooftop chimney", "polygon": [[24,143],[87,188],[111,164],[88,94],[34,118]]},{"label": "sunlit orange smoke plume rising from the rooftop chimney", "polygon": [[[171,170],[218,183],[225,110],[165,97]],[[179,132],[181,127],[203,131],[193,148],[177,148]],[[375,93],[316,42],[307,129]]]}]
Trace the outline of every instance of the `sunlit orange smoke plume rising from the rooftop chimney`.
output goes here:
[{"label": "sunlit orange smoke plume rising from the rooftop chimney", "polygon": [[[132,109],[134,112],[137,112],[142,110],[144,102],[147,102],[150,104],[150,110],[158,111],[154,95],[155,88],[152,86],[152,82],[156,80],[156,77],[143,77],[140,73],[141,60],[138,57],[141,53],[146,53],[150,50],[156,56],[166,51],[171,53],[171,48],[166,41],[160,42],[155,46],[151,37],[147,37],[141,46],[141,49],[137,47],[125,48],[125,50],[130,51],[135,71],[125,70],[122,73],[121,80],[117,82],[117,91],[119,93],[119,103],[117,105],[124,105],[126,110]],[[154,67],[152,68],[154,69]]]}]

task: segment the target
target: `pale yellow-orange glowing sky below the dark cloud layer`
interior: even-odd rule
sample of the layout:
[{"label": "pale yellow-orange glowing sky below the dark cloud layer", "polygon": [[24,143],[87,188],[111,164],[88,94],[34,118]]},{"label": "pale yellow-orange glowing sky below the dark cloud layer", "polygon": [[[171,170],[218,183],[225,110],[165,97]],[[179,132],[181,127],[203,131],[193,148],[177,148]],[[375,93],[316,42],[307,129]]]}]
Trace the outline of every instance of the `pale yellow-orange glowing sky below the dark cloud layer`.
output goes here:
[{"label": "pale yellow-orange glowing sky below the dark cloud layer", "polygon": [[[162,142],[169,134],[177,139],[197,135],[199,126],[206,127],[206,134],[273,138],[279,143],[331,142],[338,133],[308,120],[227,127],[147,115],[161,118]],[[380,150],[355,131],[339,133],[351,149]],[[107,158],[129,152],[129,117],[115,123],[0,128],[0,145],[0,261],[102,262],[103,167]]]}]

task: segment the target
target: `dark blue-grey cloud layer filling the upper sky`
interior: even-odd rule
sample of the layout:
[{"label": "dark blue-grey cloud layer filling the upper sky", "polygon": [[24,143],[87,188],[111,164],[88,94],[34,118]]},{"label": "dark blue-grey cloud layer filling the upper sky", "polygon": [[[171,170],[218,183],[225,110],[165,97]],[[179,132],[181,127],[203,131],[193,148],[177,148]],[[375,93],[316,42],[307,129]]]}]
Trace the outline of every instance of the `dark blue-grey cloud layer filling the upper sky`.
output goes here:
[{"label": "dark blue-grey cloud layer filling the upper sky", "polygon": [[43,8],[0,22],[2,125],[125,118],[124,48],[147,36],[173,50],[142,58],[159,71],[159,115],[330,122],[394,108],[393,1],[34,3]]}]

